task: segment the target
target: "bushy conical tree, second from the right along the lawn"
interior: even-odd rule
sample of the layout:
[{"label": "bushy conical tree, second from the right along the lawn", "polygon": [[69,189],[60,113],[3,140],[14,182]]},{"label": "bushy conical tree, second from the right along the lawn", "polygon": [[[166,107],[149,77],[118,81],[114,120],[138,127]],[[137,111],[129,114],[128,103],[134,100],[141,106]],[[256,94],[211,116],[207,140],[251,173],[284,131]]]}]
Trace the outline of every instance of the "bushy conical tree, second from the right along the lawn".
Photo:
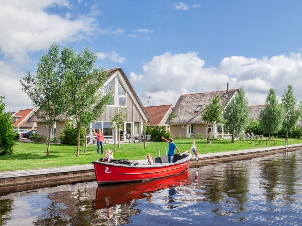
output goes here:
[{"label": "bushy conical tree, second from the right along the lawn", "polygon": [[260,124],[264,131],[268,131],[268,140],[271,140],[271,133],[278,132],[284,120],[284,109],[278,102],[275,89],[268,90],[265,108],[261,111],[260,118]]}]

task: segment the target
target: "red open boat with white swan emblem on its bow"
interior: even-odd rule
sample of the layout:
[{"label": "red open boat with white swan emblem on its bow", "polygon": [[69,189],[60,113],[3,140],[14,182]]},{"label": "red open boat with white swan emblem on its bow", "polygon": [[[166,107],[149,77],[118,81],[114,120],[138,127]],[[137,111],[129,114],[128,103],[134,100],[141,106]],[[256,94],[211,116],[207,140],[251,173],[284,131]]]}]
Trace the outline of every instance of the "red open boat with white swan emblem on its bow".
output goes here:
[{"label": "red open boat with white swan emblem on its bow", "polygon": [[164,155],[153,159],[153,165],[147,160],[129,162],[127,160],[111,160],[111,162],[91,162],[95,168],[95,176],[100,184],[124,183],[139,180],[152,180],[181,173],[188,168],[192,155],[185,152],[174,155],[173,163]]}]

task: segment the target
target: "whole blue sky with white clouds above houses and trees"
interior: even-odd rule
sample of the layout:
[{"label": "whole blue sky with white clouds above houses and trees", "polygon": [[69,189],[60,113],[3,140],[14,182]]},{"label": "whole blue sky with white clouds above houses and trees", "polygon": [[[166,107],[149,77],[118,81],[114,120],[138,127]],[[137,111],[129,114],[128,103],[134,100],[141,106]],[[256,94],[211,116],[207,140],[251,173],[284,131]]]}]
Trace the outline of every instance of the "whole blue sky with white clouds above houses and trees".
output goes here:
[{"label": "whole blue sky with white clouds above houses and trees", "polygon": [[301,1],[1,1],[0,95],[31,108],[18,80],[54,42],[88,46],[98,66],[121,67],[143,105],[244,86],[251,105],[289,83],[302,100]]}]

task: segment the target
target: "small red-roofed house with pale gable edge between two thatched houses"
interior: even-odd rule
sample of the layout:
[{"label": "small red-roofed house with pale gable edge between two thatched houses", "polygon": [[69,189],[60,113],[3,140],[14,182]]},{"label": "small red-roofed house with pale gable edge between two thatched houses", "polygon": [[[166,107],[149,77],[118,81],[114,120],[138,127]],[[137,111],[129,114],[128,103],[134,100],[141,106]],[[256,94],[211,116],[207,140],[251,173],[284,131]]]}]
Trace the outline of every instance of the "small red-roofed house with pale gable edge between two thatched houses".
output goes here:
[{"label": "small red-roofed house with pale gable edge between two thatched houses", "polygon": [[166,121],[168,120],[168,117],[173,110],[172,104],[149,106],[149,107],[145,107],[145,110],[151,120],[148,122],[148,125],[152,125],[152,126],[159,125],[159,126],[166,126],[166,127],[169,126],[169,124],[166,124]]}]

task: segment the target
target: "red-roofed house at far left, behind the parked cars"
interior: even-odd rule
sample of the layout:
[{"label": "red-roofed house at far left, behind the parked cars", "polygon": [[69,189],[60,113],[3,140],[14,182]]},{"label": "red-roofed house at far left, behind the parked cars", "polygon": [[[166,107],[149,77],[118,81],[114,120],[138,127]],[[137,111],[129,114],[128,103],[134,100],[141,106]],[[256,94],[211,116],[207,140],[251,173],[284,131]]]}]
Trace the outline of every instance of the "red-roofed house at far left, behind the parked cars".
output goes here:
[{"label": "red-roofed house at far left, behind the parked cars", "polygon": [[28,119],[36,112],[36,109],[30,108],[18,111],[11,115],[14,127],[16,129],[34,129],[37,127],[35,122],[29,121]]}]

